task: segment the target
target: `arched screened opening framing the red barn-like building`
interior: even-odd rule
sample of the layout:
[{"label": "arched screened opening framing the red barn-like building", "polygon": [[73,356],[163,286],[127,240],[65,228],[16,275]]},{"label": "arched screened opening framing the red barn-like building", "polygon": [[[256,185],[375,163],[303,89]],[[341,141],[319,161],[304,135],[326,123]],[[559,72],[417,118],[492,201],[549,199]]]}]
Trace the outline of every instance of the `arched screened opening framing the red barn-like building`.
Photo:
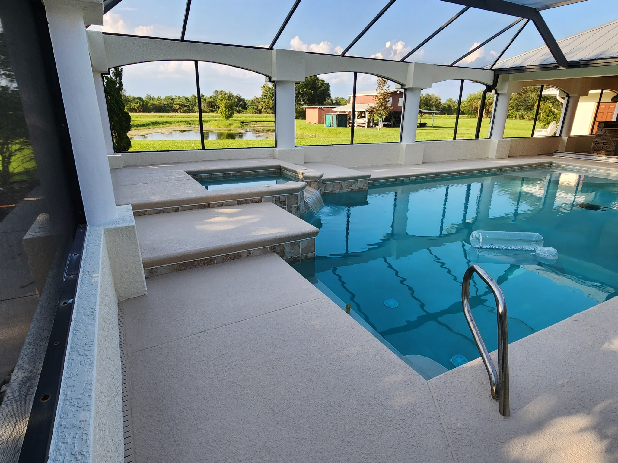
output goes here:
[{"label": "arched screened opening framing the red barn-like building", "polygon": [[400,85],[366,73],[308,77],[296,86],[296,144],[399,142],[404,94]]}]

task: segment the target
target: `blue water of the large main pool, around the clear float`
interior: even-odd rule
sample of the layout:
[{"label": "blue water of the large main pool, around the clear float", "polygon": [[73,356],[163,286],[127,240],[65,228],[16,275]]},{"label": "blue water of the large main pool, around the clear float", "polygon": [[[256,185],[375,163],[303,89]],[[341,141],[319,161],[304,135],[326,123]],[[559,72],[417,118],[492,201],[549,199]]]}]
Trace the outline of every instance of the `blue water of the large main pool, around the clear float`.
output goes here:
[{"label": "blue water of the large main pool, around the clear float", "polygon": [[[456,356],[479,356],[461,305],[472,259],[504,291],[511,343],[618,295],[617,182],[536,169],[324,195],[326,206],[305,216],[320,228],[316,257],[294,267],[342,308],[350,304],[351,315],[411,366],[442,365],[428,369],[432,376],[453,369],[453,357],[460,364]],[[474,230],[535,231],[559,258],[487,263],[471,252]],[[470,299],[494,350],[493,295],[476,277]]]}]

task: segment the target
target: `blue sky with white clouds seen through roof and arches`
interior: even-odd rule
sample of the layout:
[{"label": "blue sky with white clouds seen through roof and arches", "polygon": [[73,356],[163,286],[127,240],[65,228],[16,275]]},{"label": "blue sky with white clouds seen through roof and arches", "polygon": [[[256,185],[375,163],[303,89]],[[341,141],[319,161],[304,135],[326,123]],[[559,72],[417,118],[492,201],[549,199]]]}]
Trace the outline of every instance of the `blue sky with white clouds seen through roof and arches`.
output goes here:
[{"label": "blue sky with white clouds seen through roof and arches", "polygon": [[[276,48],[339,54],[386,4],[387,0],[302,0]],[[192,0],[187,22],[187,40],[268,47],[294,0]],[[104,16],[104,25],[93,30],[180,38],[186,0],[122,0]],[[462,7],[441,0],[397,0],[348,55],[376,59],[400,59]],[[230,14],[233,12],[233,14]],[[541,12],[557,40],[618,19],[617,0],[585,0]],[[469,9],[441,33],[415,52],[408,61],[450,64],[507,27],[517,18]],[[489,42],[459,64],[484,67],[504,49],[519,23]],[[504,57],[544,46],[532,23],[520,33]],[[127,93],[136,96],[195,94],[193,62],[152,62],[124,67]],[[351,73],[321,76],[331,84],[332,96],[352,92]],[[261,93],[262,75],[234,67],[200,63],[201,93],[227,90],[251,98]],[[376,78],[359,75],[358,90],[375,90]],[[393,86],[393,85],[391,85]],[[464,96],[476,91],[467,84]],[[459,82],[434,84],[425,92],[457,98]]]}]

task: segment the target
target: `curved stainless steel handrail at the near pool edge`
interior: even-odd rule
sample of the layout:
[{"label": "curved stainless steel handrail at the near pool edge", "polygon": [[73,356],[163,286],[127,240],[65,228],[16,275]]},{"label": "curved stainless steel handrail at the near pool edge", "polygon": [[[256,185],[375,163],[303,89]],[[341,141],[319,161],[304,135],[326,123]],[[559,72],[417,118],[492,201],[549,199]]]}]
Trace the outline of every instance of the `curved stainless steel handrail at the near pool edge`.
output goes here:
[{"label": "curved stainless steel handrail at the near pool edge", "polygon": [[[497,373],[494,362],[491,360],[483,337],[481,336],[481,332],[478,330],[474,317],[472,316],[472,309],[470,308],[470,281],[474,273],[481,277],[481,280],[489,286],[489,289],[494,294],[494,299],[496,299],[498,322]],[[468,327],[470,327],[470,332],[472,332],[472,337],[474,338],[476,347],[481,354],[481,359],[483,359],[485,369],[489,375],[491,398],[498,401],[500,414],[502,416],[509,416],[509,327],[507,323],[506,299],[504,299],[504,293],[502,293],[500,286],[479,265],[472,264],[465,271],[464,280],[462,282],[462,306],[464,307],[464,315],[468,322]]]}]

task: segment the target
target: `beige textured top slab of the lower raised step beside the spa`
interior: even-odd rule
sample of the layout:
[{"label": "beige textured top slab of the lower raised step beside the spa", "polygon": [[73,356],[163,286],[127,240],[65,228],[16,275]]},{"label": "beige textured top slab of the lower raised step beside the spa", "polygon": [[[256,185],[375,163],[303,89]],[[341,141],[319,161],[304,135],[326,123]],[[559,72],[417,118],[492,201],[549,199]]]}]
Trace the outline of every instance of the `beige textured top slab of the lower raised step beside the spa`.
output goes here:
[{"label": "beige textured top slab of the lower raised step beside the spa", "polygon": [[318,235],[271,202],[135,217],[144,267],[264,248]]}]

